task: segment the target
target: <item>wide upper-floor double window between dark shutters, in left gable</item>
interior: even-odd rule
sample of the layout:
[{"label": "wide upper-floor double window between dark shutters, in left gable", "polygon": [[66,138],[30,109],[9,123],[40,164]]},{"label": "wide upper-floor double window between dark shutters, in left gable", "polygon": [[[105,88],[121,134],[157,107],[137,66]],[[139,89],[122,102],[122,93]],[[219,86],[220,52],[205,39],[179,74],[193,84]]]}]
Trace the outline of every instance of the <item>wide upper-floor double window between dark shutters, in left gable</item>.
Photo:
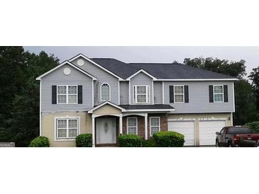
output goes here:
[{"label": "wide upper-floor double window between dark shutters, in left gable", "polygon": [[77,86],[57,86],[58,104],[76,104]]}]

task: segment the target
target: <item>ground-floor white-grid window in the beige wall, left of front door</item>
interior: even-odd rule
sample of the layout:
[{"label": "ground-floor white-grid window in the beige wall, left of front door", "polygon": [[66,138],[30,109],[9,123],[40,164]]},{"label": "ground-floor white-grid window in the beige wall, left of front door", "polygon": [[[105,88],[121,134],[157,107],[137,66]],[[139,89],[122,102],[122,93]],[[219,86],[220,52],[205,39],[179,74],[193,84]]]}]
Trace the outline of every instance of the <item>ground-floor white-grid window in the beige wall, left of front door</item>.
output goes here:
[{"label": "ground-floor white-grid window in the beige wall, left of front door", "polygon": [[78,119],[57,119],[56,138],[75,138],[78,135]]}]

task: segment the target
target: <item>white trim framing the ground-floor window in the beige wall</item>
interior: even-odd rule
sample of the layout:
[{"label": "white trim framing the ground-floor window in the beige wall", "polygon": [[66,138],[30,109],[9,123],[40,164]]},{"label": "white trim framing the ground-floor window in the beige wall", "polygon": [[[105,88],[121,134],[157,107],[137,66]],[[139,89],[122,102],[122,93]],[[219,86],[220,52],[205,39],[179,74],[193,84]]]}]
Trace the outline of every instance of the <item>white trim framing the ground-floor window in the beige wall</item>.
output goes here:
[{"label": "white trim framing the ground-floor window in the beige wall", "polygon": [[79,116],[64,116],[54,118],[54,141],[55,142],[72,142],[75,141],[75,137],[58,137],[57,138],[57,120],[59,119],[77,119],[77,135],[80,135],[80,117]]}]

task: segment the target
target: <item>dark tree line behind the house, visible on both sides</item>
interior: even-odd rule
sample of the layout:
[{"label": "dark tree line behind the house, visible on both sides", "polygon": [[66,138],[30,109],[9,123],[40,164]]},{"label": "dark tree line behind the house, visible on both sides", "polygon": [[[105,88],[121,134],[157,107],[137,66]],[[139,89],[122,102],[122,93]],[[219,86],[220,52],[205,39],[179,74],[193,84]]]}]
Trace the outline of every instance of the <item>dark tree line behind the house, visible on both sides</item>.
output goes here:
[{"label": "dark tree line behind the house, visible on both sides", "polygon": [[[0,142],[28,147],[39,135],[40,82],[35,78],[56,67],[59,59],[42,51],[38,55],[23,47],[0,47]],[[238,78],[235,81],[234,125],[259,120],[259,67],[246,76],[246,62],[213,58],[184,59],[184,65]]]}]

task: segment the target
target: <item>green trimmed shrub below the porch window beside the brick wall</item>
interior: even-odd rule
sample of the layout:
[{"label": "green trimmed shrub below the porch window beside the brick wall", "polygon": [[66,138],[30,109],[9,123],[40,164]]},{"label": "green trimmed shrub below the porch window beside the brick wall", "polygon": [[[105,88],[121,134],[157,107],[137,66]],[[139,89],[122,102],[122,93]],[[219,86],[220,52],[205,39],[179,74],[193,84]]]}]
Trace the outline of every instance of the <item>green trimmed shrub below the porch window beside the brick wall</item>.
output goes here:
[{"label": "green trimmed shrub below the porch window beside the brick wall", "polygon": [[142,137],[139,135],[120,135],[119,136],[119,147],[141,147]]}]

